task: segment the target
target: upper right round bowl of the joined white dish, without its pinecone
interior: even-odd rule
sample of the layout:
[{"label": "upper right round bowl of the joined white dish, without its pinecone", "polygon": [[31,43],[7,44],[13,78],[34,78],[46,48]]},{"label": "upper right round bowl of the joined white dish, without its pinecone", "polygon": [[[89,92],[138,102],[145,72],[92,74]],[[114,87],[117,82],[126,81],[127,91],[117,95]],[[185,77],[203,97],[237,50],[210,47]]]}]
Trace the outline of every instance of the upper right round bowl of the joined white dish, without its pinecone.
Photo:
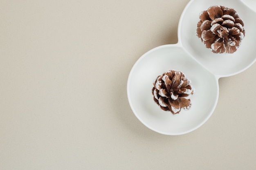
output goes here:
[{"label": "upper right round bowl of the joined white dish, without its pinecone", "polygon": [[[195,36],[195,26],[199,21],[200,11],[207,10],[211,5],[223,5],[234,8],[245,22],[245,38],[241,46],[233,54],[214,54],[205,48],[200,38]],[[227,77],[238,74],[255,60],[256,48],[256,13],[240,0],[191,0],[185,7],[178,26],[178,40],[181,46],[214,75]]]}]

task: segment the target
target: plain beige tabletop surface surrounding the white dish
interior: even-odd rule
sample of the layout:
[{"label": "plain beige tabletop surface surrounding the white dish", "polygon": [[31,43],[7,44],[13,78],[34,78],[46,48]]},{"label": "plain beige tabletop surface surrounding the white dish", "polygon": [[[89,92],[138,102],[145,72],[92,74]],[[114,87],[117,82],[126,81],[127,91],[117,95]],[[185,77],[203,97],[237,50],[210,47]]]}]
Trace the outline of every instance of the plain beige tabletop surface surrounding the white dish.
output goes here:
[{"label": "plain beige tabletop surface surrounding the white dish", "polygon": [[216,110],[181,136],[135,117],[126,83],[177,42],[189,0],[0,0],[1,170],[254,170],[256,64],[221,78]]}]

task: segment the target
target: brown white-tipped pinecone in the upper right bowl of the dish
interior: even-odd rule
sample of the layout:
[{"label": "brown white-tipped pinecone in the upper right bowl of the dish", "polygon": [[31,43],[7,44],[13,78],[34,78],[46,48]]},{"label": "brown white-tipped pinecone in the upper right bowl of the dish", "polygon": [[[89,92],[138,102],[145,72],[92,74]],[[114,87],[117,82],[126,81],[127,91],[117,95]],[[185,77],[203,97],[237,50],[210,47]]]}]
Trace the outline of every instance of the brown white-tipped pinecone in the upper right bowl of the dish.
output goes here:
[{"label": "brown white-tipped pinecone in the upper right bowl of the dish", "polygon": [[211,6],[200,13],[196,35],[213,53],[234,53],[245,36],[244,22],[236,11]]}]

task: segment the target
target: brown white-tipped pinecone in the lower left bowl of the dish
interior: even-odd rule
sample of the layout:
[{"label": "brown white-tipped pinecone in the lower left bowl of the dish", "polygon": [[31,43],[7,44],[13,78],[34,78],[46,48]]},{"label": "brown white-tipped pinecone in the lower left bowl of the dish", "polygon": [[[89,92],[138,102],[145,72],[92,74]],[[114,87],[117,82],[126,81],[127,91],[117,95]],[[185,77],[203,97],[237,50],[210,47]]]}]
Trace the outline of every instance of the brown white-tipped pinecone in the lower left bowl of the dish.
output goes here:
[{"label": "brown white-tipped pinecone in the lower left bowl of the dish", "polygon": [[190,97],[194,93],[191,81],[180,71],[170,70],[159,75],[152,88],[154,101],[165,111],[180,113],[181,108],[189,110]]}]

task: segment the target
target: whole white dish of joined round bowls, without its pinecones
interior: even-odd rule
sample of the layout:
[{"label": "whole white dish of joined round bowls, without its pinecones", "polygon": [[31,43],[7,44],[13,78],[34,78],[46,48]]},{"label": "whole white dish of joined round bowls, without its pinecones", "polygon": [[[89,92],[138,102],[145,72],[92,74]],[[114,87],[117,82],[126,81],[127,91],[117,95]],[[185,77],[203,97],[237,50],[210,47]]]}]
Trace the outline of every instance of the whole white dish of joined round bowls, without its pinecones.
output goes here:
[{"label": "whole white dish of joined round bowls, without its pinecones", "polygon": [[[214,54],[195,35],[199,13],[216,4],[234,8],[245,22],[245,38],[233,54]],[[182,135],[202,126],[216,108],[218,79],[238,74],[256,61],[254,17],[256,13],[240,0],[215,0],[214,4],[210,0],[191,0],[180,18],[178,43],[148,51],[130,71],[127,94],[136,117],[151,130],[165,135]],[[155,78],[171,69],[185,73],[196,90],[191,109],[182,110],[179,115],[161,110],[151,94]]]}]

